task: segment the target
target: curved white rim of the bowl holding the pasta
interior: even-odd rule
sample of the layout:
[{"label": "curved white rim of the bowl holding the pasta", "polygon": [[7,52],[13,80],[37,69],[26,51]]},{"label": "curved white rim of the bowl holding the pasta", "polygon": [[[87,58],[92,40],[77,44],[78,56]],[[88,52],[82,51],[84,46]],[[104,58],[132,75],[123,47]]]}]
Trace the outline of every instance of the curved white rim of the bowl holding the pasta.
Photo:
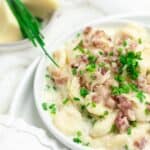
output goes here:
[{"label": "curved white rim of the bowl holding the pasta", "polygon": [[[73,35],[76,35],[76,33],[82,31],[83,28],[86,27],[86,26],[96,27],[96,26],[102,26],[105,23],[106,24],[108,24],[108,23],[113,24],[113,23],[117,23],[117,22],[126,23],[126,24],[128,24],[128,23],[141,24],[138,21],[131,21],[131,20],[128,20],[128,19],[124,19],[123,17],[124,17],[123,15],[120,16],[120,17],[119,17],[119,15],[109,16],[109,17],[106,17],[106,18],[103,18],[103,19],[94,20],[91,23],[84,24],[84,25],[80,26],[79,28],[75,29],[73,32],[69,33],[68,35],[63,36],[61,39],[59,39],[59,42],[53,43],[53,45],[50,47],[51,52],[56,50],[57,49],[56,47],[61,47],[61,45],[63,45],[65,41],[68,41],[67,39],[69,39],[70,37],[74,37]],[[61,43],[61,44],[59,45],[58,43]],[[38,93],[39,91],[37,90],[37,83],[40,83],[39,82],[40,72],[41,72],[41,69],[43,67],[43,64],[45,64],[45,61],[46,61],[45,57],[41,59],[39,65],[36,69],[35,78],[34,78],[34,85],[33,85],[34,101],[35,101],[35,105],[36,105],[37,111],[39,113],[39,116],[42,119],[45,126],[47,127],[47,129],[49,130],[49,132],[52,133],[52,135],[54,135],[54,137],[56,139],[58,139],[61,143],[63,143],[66,147],[74,149],[74,150],[76,150],[76,149],[83,150],[83,149],[85,149],[85,147],[71,141],[69,136],[64,135],[61,131],[59,131],[54,126],[54,124],[52,122],[50,122],[50,119],[52,119],[52,117],[50,117],[50,115],[48,115],[48,113],[45,112],[41,107],[41,104],[44,101],[40,101],[39,100],[40,98],[37,96],[37,95],[39,95],[39,93]],[[49,118],[49,121],[47,121],[48,118]],[[87,148],[87,149],[89,149],[89,148]]]}]

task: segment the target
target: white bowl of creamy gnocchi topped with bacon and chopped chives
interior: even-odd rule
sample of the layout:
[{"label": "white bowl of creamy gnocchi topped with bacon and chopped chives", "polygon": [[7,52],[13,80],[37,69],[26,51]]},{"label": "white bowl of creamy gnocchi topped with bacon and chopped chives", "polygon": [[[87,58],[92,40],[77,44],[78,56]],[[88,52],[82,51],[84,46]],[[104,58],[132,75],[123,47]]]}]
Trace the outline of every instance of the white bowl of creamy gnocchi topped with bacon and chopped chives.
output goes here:
[{"label": "white bowl of creamy gnocchi topped with bacon and chopped chives", "polygon": [[149,150],[150,34],[144,24],[103,20],[58,40],[34,81],[49,131],[71,149]]}]

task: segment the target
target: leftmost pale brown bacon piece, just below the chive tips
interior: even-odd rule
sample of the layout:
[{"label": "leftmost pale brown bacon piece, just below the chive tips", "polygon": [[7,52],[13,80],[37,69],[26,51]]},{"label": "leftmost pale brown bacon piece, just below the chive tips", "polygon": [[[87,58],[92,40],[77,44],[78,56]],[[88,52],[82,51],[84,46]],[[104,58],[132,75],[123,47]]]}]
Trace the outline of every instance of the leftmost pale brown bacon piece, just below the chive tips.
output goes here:
[{"label": "leftmost pale brown bacon piece, just below the chive tips", "polygon": [[63,84],[66,84],[68,81],[68,76],[63,75],[60,71],[53,71],[52,77],[56,84],[63,85]]}]

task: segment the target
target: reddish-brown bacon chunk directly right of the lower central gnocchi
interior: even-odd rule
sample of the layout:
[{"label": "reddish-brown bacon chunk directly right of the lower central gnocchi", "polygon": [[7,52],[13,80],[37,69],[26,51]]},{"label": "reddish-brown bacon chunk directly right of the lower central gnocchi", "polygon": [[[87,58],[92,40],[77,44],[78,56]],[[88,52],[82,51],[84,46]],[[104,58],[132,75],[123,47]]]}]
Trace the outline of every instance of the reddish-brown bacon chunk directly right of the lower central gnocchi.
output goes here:
[{"label": "reddish-brown bacon chunk directly right of the lower central gnocchi", "polygon": [[120,132],[126,131],[129,127],[128,119],[121,111],[117,114],[115,125]]}]

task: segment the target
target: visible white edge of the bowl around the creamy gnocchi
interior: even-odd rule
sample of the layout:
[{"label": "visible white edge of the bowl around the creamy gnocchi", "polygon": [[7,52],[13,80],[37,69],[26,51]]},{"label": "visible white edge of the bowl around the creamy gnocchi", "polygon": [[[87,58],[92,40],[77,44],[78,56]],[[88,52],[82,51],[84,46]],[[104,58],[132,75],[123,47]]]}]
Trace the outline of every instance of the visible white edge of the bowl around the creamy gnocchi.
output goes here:
[{"label": "visible white edge of the bowl around the creamy gnocchi", "polygon": [[[90,23],[86,26],[102,26],[102,27],[121,27],[124,25],[127,25],[131,23],[131,21],[127,21],[127,20],[114,20],[113,18],[107,18],[107,19],[103,19],[103,20],[97,20],[94,21],[93,23]],[[77,29],[76,31],[74,31],[73,33],[63,37],[62,39],[59,39],[56,43],[53,44],[53,46],[51,46],[49,49],[51,51],[56,50],[57,48],[60,48],[61,46],[64,45],[64,43],[66,41],[70,41],[71,39],[73,39],[75,37],[75,35],[79,32],[82,31],[82,29],[84,28],[84,26],[80,27],[79,29]],[[74,143],[72,141],[72,139],[70,139],[69,137],[65,136],[63,133],[61,133],[53,124],[52,122],[52,118],[49,115],[49,113],[45,112],[42,109],[42,103],[44,102],[42,100],[43,96],[43,90],[44,90],[44,77],[45,77],[45,71],[46,71],[46,67],[47,67],[47,60],[45,58],[43,58],[40,61],[40,64],[37,68],[36,74],[35,74],[35,79],[34,79],[34,97],[35,97],[35,104],[37,107],[37,110],[39,112],[39,115],[41,117],[41,119],[43,120],[44,124],[46,125],[46,127],[48,128],[48,130],[61,142],[63,143],[65,146],[67,146],[68,148],[74,149],[74,150],[83,150],[85,149],[85,147],[78,145],[76,143]]]}]

